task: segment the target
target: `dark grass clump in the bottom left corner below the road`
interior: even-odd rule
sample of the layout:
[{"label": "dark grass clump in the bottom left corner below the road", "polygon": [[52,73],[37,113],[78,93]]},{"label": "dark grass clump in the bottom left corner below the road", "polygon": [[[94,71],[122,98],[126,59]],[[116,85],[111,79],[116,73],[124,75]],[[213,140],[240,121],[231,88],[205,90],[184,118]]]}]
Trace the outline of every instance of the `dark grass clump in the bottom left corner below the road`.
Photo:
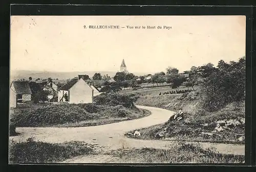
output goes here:
[{"label": "dark grass clump in the bottom left corner below the road", "polygon": [[46,143],[29,138],[27,142],[11,140],[10,163],[57,163],[80,155],[94,154],[93,148],[83,142]]}]

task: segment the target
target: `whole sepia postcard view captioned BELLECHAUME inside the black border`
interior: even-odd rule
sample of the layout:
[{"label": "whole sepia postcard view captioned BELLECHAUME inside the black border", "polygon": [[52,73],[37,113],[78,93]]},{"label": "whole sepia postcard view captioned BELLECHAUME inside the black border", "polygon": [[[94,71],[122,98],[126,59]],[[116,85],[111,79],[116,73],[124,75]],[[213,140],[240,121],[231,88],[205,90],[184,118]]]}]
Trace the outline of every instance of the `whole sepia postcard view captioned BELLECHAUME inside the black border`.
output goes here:
[{"label": "whole sepia postcard view captioned BELLECHAUME inside the black border", "polygon": [[9,164],[245,163],[246,16],[11,15]]}]

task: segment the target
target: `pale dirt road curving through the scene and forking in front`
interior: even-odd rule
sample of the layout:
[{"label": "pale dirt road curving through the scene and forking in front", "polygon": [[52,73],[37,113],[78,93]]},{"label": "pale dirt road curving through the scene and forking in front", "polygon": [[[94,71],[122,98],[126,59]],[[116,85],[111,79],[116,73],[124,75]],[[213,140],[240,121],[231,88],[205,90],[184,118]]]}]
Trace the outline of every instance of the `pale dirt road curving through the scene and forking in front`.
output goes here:
[{"label": "pale dirt road curving through the scene and forking in front", "polygon": [[[125,132],[132,131],[152,125],[157,125],[166,122],[170,116],[174,115],[174,112],[160,109],[157,107],[138,106],[142,109],[151,111],[151,115],[117,123],[87,126],[87,127],[20,127],[16,128],[16,131],[20,133],[18,136],[10,137],[16,141],[24,141],[27,138],[33,136],[36,140],[61,143],[65,141],[84,141],[89,144],[96,144],[98,152],[109,152],[109,150],[118,148],[141,148],[141,147],[153,147],[168,149],[174,144],[175,141],[163,141],[163,140],[136,140],[126,138]],[[200,143],[204,148],[214,146],[217,151],[225,154],[245,154],[244,145],[234,144],[216,144],[216,143]],[[90,163],[94,158],[75,158],[65,162],[83,162]],[[101,157],[96,163],[106,162],[109,158]],[[89,162],[88,162],[89,161]],[[102,162],[101,162],[102,161]],[[94,159],[95,162],[95,159]]]}]

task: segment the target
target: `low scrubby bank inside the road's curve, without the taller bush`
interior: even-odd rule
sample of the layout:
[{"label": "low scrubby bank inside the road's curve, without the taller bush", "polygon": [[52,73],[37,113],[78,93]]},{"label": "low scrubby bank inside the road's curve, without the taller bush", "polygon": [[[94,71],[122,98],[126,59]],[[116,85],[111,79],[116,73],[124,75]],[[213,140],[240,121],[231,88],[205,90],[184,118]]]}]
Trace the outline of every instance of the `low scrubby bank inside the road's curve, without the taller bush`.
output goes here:
[{"label": "low scrubby bank inside the road's curve, without the taller bush", "polygon": [[103,118],[134,118],[142,112],[126,109],[122,105],[54,104],[36,110],[24,110],[14,114],[11,124],[17,127],[52,126],[64,123],[97,120]]}]

